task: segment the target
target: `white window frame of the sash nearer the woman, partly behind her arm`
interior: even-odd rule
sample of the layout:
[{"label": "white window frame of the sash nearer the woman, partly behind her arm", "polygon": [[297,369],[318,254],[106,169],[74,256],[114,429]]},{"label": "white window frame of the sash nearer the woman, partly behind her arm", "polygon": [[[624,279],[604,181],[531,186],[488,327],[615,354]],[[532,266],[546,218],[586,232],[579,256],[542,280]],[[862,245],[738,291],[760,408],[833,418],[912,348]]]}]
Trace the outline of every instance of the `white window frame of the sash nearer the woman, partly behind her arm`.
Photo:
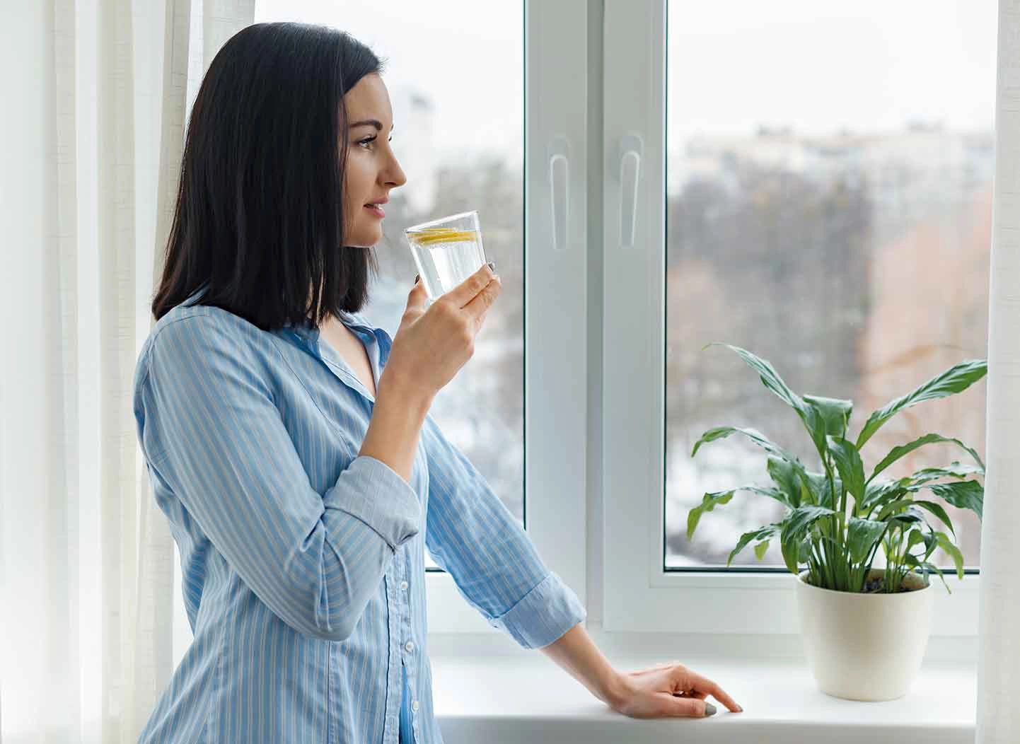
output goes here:
[{"label": "white window frame of the sash nearer the woman, partly behind her arm", "polygon": [[[522,2],[525,527],[586,605],[588,2]],[[500,632],[425,576],[429,634]]]}]

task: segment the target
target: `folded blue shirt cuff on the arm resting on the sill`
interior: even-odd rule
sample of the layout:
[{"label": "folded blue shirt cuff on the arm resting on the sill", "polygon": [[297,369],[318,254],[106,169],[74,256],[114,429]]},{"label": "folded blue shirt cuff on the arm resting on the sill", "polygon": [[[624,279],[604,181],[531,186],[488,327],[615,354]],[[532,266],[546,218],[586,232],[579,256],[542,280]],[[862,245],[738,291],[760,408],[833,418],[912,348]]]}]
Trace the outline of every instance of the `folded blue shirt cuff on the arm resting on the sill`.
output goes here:
[{"label": "folded blue shirt cuff on the arm resting on the sill", "polygon": [[588,617],[573,589],[554,572],[510,609],[489,621],[502,628],[524,648],[542,648]]}]

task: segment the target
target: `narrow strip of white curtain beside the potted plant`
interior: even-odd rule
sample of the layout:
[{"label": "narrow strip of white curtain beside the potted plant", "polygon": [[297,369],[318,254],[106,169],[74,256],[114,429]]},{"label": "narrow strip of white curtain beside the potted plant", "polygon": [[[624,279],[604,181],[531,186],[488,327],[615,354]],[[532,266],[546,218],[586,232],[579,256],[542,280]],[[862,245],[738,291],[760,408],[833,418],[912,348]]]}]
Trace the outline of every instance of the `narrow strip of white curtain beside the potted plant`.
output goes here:
[{"label": "narrow strip of white curtain beside the potted plant", "polygon": [[999,0],[977,744],[1020,742],[1020,0]]}]

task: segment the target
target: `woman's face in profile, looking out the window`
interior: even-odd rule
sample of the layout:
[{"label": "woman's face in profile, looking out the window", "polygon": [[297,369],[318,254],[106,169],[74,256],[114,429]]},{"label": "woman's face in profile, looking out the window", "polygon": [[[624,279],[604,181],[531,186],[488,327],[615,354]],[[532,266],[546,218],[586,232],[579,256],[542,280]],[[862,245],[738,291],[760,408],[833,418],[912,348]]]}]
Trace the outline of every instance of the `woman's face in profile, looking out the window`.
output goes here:
[{"label": "woman's face in profile, looking out the window", "polygon": [[[382,237],[390,191],[407,178],[390,148],[393,109],[382,78],[367,74],[347,95],[348,154],[344,180],[347,246],[370,247]],[[366,205],[378,207],[369,208]]]}]

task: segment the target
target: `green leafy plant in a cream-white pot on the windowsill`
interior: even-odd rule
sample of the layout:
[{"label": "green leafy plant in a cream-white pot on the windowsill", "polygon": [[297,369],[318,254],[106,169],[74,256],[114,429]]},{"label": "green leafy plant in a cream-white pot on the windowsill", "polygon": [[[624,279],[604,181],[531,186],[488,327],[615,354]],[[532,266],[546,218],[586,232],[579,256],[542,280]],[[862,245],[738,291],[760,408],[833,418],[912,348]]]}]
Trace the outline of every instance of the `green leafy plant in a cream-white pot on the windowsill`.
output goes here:
[{"label": "green leafy plant in a cream-white pot on the windowsill", "polygon": [[[741,536],[726,566],[752,543],[761,560],[769,541],[778,537],[786,568],[797,576],[805,654],[821,690],[852,700],[902,697],[917,676],[927,646],[932,598],[929,572],[938,574],[950,591],[942,572],[929,562],[936,547],[952,556],[957,576],[963,579],[963,554],[953,541],[956,533],[949,515],[936,501],[917,496],[929,491],[980,518],[984,489],[968,477],[983,476],[984,464],[959,439],[925,434],[894,447],[868,474],[861,448],[898,412],[967,389],[984,376],[986,361],[961,362],[889,402],[872,413],[857,438],[851,439],[847,430],[852,401],[798,395],[767,361],[725,343],[705,349],[711,346],[724,346],[738,354],[765,387],[794,409],[818,453],[821,469],[808,470],[795,455],[755,429],[709,429],[695,444],[692,457],[702,444],[741,434],[768,454],[771,485],[706,493],[687,515],[687,539],[694,537],[702,515],[727,503],[737,491],[783,504],[779,522]],[[904,478],[882,476],[904,456],[933,442],[958,445],[973,463],[954,461]],[[930,518],[945,528],[936,529]],[[872,569],[879,546],[885,567]],[[807,568],[801,571],[801,566]]]}]

